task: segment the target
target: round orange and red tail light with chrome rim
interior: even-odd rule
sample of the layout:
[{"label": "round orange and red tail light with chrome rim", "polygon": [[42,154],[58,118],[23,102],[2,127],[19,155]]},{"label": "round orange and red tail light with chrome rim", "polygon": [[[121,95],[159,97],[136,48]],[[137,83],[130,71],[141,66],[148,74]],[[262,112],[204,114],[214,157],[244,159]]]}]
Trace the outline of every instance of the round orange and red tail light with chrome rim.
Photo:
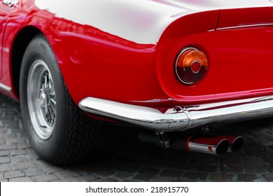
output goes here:
[{"label": "round orange and red tail light with chrome rim", "polygon": [[196,48],[185,48],[176,58],[176,76],[184,84],[197,83],[206,75],[208,66],[207,57],[203,52]]}]

